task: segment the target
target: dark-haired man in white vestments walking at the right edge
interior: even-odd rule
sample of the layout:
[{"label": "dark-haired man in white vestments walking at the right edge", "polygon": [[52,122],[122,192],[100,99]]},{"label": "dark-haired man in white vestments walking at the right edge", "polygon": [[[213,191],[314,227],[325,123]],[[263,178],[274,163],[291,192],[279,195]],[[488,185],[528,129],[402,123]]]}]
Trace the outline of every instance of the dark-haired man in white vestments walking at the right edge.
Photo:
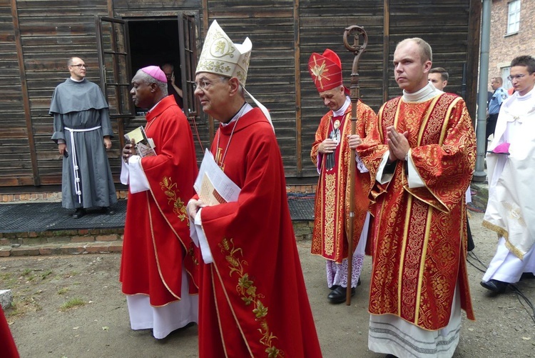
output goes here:
[{"label": "dark-haired man in white vestments walking at the right edge", "polygon": [[489,203],[483,226],[500,239],[481,286],[496,293],[535,272],[535,59],[513,59],[509,80],[515,93],[501,105],[486,156]]}]

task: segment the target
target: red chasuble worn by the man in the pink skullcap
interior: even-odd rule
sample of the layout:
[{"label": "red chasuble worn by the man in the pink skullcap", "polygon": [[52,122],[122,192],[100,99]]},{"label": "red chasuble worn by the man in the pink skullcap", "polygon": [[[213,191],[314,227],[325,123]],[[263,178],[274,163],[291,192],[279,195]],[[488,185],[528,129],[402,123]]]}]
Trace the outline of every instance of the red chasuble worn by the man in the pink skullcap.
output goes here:
[{"label": "red chasuble worn by the man in the pink skullcap", "polygon": [[173,96],[148,112],[156,156],[141,159],[151,190],[128,192],[120,280],[125,294],[148,294],[151,305],[180,299],[182,265],[198,286],[198,261],[185,210],[198,173],[190,125]]}]

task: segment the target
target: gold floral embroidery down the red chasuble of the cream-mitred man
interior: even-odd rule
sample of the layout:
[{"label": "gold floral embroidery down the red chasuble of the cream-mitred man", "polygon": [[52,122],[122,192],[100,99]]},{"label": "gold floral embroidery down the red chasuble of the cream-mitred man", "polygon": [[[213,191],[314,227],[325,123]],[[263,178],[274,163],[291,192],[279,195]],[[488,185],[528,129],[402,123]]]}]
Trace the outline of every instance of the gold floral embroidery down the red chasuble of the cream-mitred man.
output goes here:
[{"label": "gold floral embroidery down the red chasuble of the cream-mitred man", "polygon": [[249,266],[249,264],[244,259],[240,259],[240,257],[243,257],[242,249],[234,246],[233,239],[223,239],[218,246],[228,262],[230,277],[238,275],[236,291],[240,295],[243,304],[245,306],[251,306],[251,312],[255,316],[255,321],[258,322],[258,332],[262,334],[260,343],[266,347],[265,352],[267,353],[267,357],[284,357],[284,352],[278,349],[275,346],[275,342],[273,342],[277,339],[277,336],[270,331],[267,325],[268,308],[264,306],[261,300],[265,298],[265,295],[256,292],[257,287],[255,286],[255,282],[250,279],[248,272],[245,272],[244,267]]}]

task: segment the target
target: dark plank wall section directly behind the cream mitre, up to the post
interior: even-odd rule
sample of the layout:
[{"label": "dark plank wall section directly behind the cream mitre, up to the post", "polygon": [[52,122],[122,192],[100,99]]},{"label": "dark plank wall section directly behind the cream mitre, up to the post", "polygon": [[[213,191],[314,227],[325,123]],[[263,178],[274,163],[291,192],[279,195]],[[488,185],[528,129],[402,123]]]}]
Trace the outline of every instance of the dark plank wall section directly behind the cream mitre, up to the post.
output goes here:
[{"label": "dark plank wall section directly behind the cream mitre, up to the post", "polygon": [[296,176],[294,1],[210,0],[203,12],[233,41],[248,36],[253,42],[247,90],[270,110],[285,174]]}]

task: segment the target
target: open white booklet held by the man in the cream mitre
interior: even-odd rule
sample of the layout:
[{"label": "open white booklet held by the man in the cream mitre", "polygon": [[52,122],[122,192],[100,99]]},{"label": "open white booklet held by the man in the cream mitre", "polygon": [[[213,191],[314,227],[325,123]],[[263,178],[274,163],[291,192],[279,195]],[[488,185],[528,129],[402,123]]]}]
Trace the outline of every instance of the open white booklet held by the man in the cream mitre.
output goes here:
[{"label": "open white booklet held by the man in the cream mitre", "polygon": [[199,199],[208,206],[237,202],[241,191],[240,187],[223,173],[208,149],[205,151],[193,188]]}]

